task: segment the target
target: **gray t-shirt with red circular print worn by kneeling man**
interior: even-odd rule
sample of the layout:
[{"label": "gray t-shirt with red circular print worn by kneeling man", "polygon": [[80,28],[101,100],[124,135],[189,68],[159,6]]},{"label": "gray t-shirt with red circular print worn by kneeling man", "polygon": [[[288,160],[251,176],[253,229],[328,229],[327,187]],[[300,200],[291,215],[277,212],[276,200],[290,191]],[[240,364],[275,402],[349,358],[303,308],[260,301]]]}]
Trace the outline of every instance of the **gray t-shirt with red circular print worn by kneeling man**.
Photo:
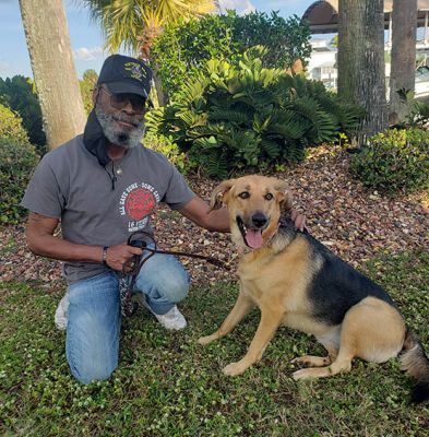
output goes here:
[{"label": "gray t-shirt with red circular print worn by kneeling man", "polygon": [[[136,146],[114,166],[110,162],[103,167],[79,135],[43,157],[21,204],[60,218],[62,237],[71,243],[114,246],[126,243],[135,231],[152,232],[151,214],[159,202],[177,210],[194,197],[162,154]],[[69,283],[105,270],[94,262],[63,265]]]}]

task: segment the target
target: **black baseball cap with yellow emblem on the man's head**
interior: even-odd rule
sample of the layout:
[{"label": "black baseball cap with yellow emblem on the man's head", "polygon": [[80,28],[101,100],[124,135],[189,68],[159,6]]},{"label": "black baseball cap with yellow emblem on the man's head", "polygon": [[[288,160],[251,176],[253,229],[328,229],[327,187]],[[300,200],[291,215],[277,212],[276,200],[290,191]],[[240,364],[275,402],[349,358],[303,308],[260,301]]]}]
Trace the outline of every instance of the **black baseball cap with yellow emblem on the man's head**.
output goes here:
[{"label": "black baseball cap with yellow emblem on the man's head", "polygon": [[114,94],[132,93],[147,98],[151,81],[152,70],[142,60],[111,55],[103,63],[97,86],[105,83]]}]

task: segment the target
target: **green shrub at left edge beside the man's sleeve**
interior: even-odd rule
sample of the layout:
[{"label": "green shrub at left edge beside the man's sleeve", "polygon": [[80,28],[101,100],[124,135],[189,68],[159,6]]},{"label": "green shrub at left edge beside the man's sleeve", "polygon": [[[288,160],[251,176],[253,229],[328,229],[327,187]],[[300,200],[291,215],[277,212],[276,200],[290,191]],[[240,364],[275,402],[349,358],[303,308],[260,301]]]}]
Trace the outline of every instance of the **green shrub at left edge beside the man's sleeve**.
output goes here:
[{"label": "green shrub at left edge beside the man's sleeve", "polygon": [[0,224],[15,224],[26,211],[20,206],[39,157],[28,142],[0,138]]}]

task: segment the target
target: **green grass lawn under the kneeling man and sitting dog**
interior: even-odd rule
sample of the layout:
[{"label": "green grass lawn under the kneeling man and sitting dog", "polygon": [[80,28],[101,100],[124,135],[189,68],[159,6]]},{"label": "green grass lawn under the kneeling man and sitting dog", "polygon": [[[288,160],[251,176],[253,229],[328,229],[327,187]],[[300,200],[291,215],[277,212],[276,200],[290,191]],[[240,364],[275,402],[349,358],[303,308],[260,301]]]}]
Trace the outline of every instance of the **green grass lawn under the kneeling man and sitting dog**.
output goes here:
[{"label": "green grass lawn under the kneeling man and sitting dog", "polygon": [[[429,255],[381,256],[367,268],[398,302],[429,350]],[[429,405],[409,405],[397,359],[356,361],[347,375],[295,382],[289,361],[321,354],[311,336],[282,328],[261,363],[236,378],[221,369],[243,355],[259,322],[250,314],[227,338],[200,346],[234,304],[237,287],[193,287],[182,332],[140,309],[123,322],[119,368],[81,386],[69,375],[53,327],[61,284],[0,288],[0,434],[4,436],[424,436]]]}]

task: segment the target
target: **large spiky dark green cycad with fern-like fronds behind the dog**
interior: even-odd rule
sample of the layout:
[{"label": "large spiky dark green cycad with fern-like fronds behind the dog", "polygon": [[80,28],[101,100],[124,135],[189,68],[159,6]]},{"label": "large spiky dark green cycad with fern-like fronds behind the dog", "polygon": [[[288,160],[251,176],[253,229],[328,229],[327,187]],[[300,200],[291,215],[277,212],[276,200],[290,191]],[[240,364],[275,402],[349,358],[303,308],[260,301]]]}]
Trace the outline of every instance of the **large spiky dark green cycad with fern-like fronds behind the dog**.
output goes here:
[{"label": "large spiky dark green cycad with fern-like fronds behind the dog", "polygon": [[320,82],[264,68],[266,51],[249,49],[237,68],[210,60],[175,103],[147,115],[148,130],[170,135],[190,166],[224,178],[298,162],[306,146],[357,126],[359,108],[339,103]]}]

